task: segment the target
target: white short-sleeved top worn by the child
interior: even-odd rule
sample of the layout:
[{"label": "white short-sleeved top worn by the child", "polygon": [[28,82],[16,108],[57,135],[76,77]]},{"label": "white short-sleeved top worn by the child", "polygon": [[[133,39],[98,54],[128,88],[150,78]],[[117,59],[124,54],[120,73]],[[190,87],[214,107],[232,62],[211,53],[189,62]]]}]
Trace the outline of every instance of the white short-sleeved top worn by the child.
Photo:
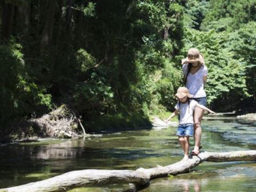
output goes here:
[{"label": "white short-sleeved top worn by the child", "polygon": [[[175,105],[175,109],[179,110],[179,124],[183,125],[185,123],[194,124],[193,120],[193,111],[195,109],[195,105],[197,105],[197,101],[191,99],[189,102],[182,103],[177,102]],[[181,108],[179,108],[181,107]]]}]

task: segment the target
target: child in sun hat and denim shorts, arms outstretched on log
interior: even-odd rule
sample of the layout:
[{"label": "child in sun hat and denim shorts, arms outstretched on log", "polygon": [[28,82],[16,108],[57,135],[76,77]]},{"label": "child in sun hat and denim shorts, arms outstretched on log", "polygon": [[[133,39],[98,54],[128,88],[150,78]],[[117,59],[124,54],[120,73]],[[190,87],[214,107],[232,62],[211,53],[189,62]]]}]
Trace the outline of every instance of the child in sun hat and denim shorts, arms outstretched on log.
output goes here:
[{"label": "child in sun hat and denim shorts, arms outstretched on log", "polygon": [[168,122],[171,118],[179,112],[179,126],[177,129],[177,135],[179,137],[179,143],[181,143],[182,149],[184,151],[184,160],[189,158],[189,137],[194,135],[194,121],[193,121],[193,111],[195,107],[199,107],[203,110],[207,110],[210,113],[214,113],[207,107],[198,104],[195,100],[190,100],[193,95],[189,93],[186,87],[179,87],[175,96],[178,98],[178,102],[175,106],[175,111],[170,115],[165,122]]}]

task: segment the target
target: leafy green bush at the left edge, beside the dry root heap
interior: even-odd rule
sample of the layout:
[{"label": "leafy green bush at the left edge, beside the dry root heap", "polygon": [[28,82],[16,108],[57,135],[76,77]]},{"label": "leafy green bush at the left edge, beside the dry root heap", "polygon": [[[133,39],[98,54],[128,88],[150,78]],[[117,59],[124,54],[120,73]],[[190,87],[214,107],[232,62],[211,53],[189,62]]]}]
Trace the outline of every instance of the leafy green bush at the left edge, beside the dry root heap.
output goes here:
[{"label": "leafy green bush at the left edge, beside the dry root heap", "polygon": [[11,42],[0,46],[1,78],[1,120],[4,125],[10,119],[24,117],[39,110],[40,106],[50,108],[51,95],[38,86],[26,74],[22,46]]}]

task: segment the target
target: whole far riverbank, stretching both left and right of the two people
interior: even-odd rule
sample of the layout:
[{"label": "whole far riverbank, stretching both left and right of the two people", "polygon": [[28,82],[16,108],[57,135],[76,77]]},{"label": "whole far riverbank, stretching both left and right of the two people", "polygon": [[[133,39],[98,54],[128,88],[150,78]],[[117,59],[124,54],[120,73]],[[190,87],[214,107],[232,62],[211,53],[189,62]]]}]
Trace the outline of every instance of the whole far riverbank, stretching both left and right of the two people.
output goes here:
[{"label": "whole far riverbank, stretching both left and right of the two people", "polygon": [[[58,112],[59,113],[59,112]],[[70,118],[65,119],[65,123],[69,122],[72,126],[62,126],[62,124],[56,123],[56,112],[51,112],[49,114],[55,114],[55,120],[54,122],[51,122],[52,128],[49,129],[49,127],[43,127],[46,125],[43,124],[41,127],[37,124],[31,124],[33,121],[26,121],[26,122],[20,122],[16,125],[13,125],[11,127],[11,131],[9,134],[6,134],[5,137],[0,138],[0,143],[10,143],[10,142],[34,142],[39,141],[43,138],[79,138],[79,137],[85,137],[85,134],[83,133],[83,129],[81,126],[85,127],[86,134],[105,134],[105,133],[117,133],[118,131],[126,131],[126,130],[141,130],[141,129],[151,129],[152,127],[156,127],[156,129],[161,129],[161,127],[167,127],[167,126],[177,126],[178,125],[178,119],[177,117],[173,119],[173,121],[169,123],[165,123],[163,119],[166,119],[171,114],[167,111],[161,111],[158,115],[151,115],[150,117],[146,117],[143,114],[114,114],[114,115],[103,115],[99,117],[95,121],[81,121],[81,124],[77,122],[77,118],[74,118],[75,116],[72,116],[71,122]],[[47,114],[49,116],[49,114]],[[63,117],[63,113],[61,113],[61,117]],[[254,114],[245,114],[245,115],[235,115],[236,112],[232,111],[229,113],[217,113],[217,116],[213,115],[205,115],[203,119],[245,119],[250,121],[256,121],[256,113]],[[43,121],[45,121],[45,117],[48,117],[47,115],[43,115]],[[49,116],[50,117],[50,116]],[[159,118],[160,117],[160,118]],[[38,119],[41,119],[38,118]],[[50,117],[51,120],[53,120],[52,117]],[[39,121],[42,122],[42,121]],[[55,126],[57,125],[57,126]],[[14,129],[15,127],[15,129]],[[47,129],[46,129],[47,128]],[[15,131],[17,130],[17,131]],[[54,134],[57,130],[57,133],[62,134]],[[65,130],[69,130],[69,132],[65,132]],[[54,133],[53,133],[54,132]],[[50,133],[50,134],[49,134]]]}]

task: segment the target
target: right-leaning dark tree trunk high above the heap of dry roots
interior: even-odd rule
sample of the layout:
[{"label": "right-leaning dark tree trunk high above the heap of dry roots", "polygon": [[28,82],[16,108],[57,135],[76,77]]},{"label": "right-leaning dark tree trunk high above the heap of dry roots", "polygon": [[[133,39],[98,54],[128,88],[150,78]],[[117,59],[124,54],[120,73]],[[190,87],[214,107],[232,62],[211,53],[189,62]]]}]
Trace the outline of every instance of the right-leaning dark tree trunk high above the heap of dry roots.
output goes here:
[{"label": "right-leaning dark tree trunk high above the heap of dry roots", "polygon": [[46,46],[49,46],[51,43],[51,38],[53,35],[53,26],[54,26],[54,11],[55,11],[56,0],[49,1],[49,7],[46,11],[47,17],[45,21],[45,27],[43,28],[42,39],[41,39],[41,54],[45,50]]}]

